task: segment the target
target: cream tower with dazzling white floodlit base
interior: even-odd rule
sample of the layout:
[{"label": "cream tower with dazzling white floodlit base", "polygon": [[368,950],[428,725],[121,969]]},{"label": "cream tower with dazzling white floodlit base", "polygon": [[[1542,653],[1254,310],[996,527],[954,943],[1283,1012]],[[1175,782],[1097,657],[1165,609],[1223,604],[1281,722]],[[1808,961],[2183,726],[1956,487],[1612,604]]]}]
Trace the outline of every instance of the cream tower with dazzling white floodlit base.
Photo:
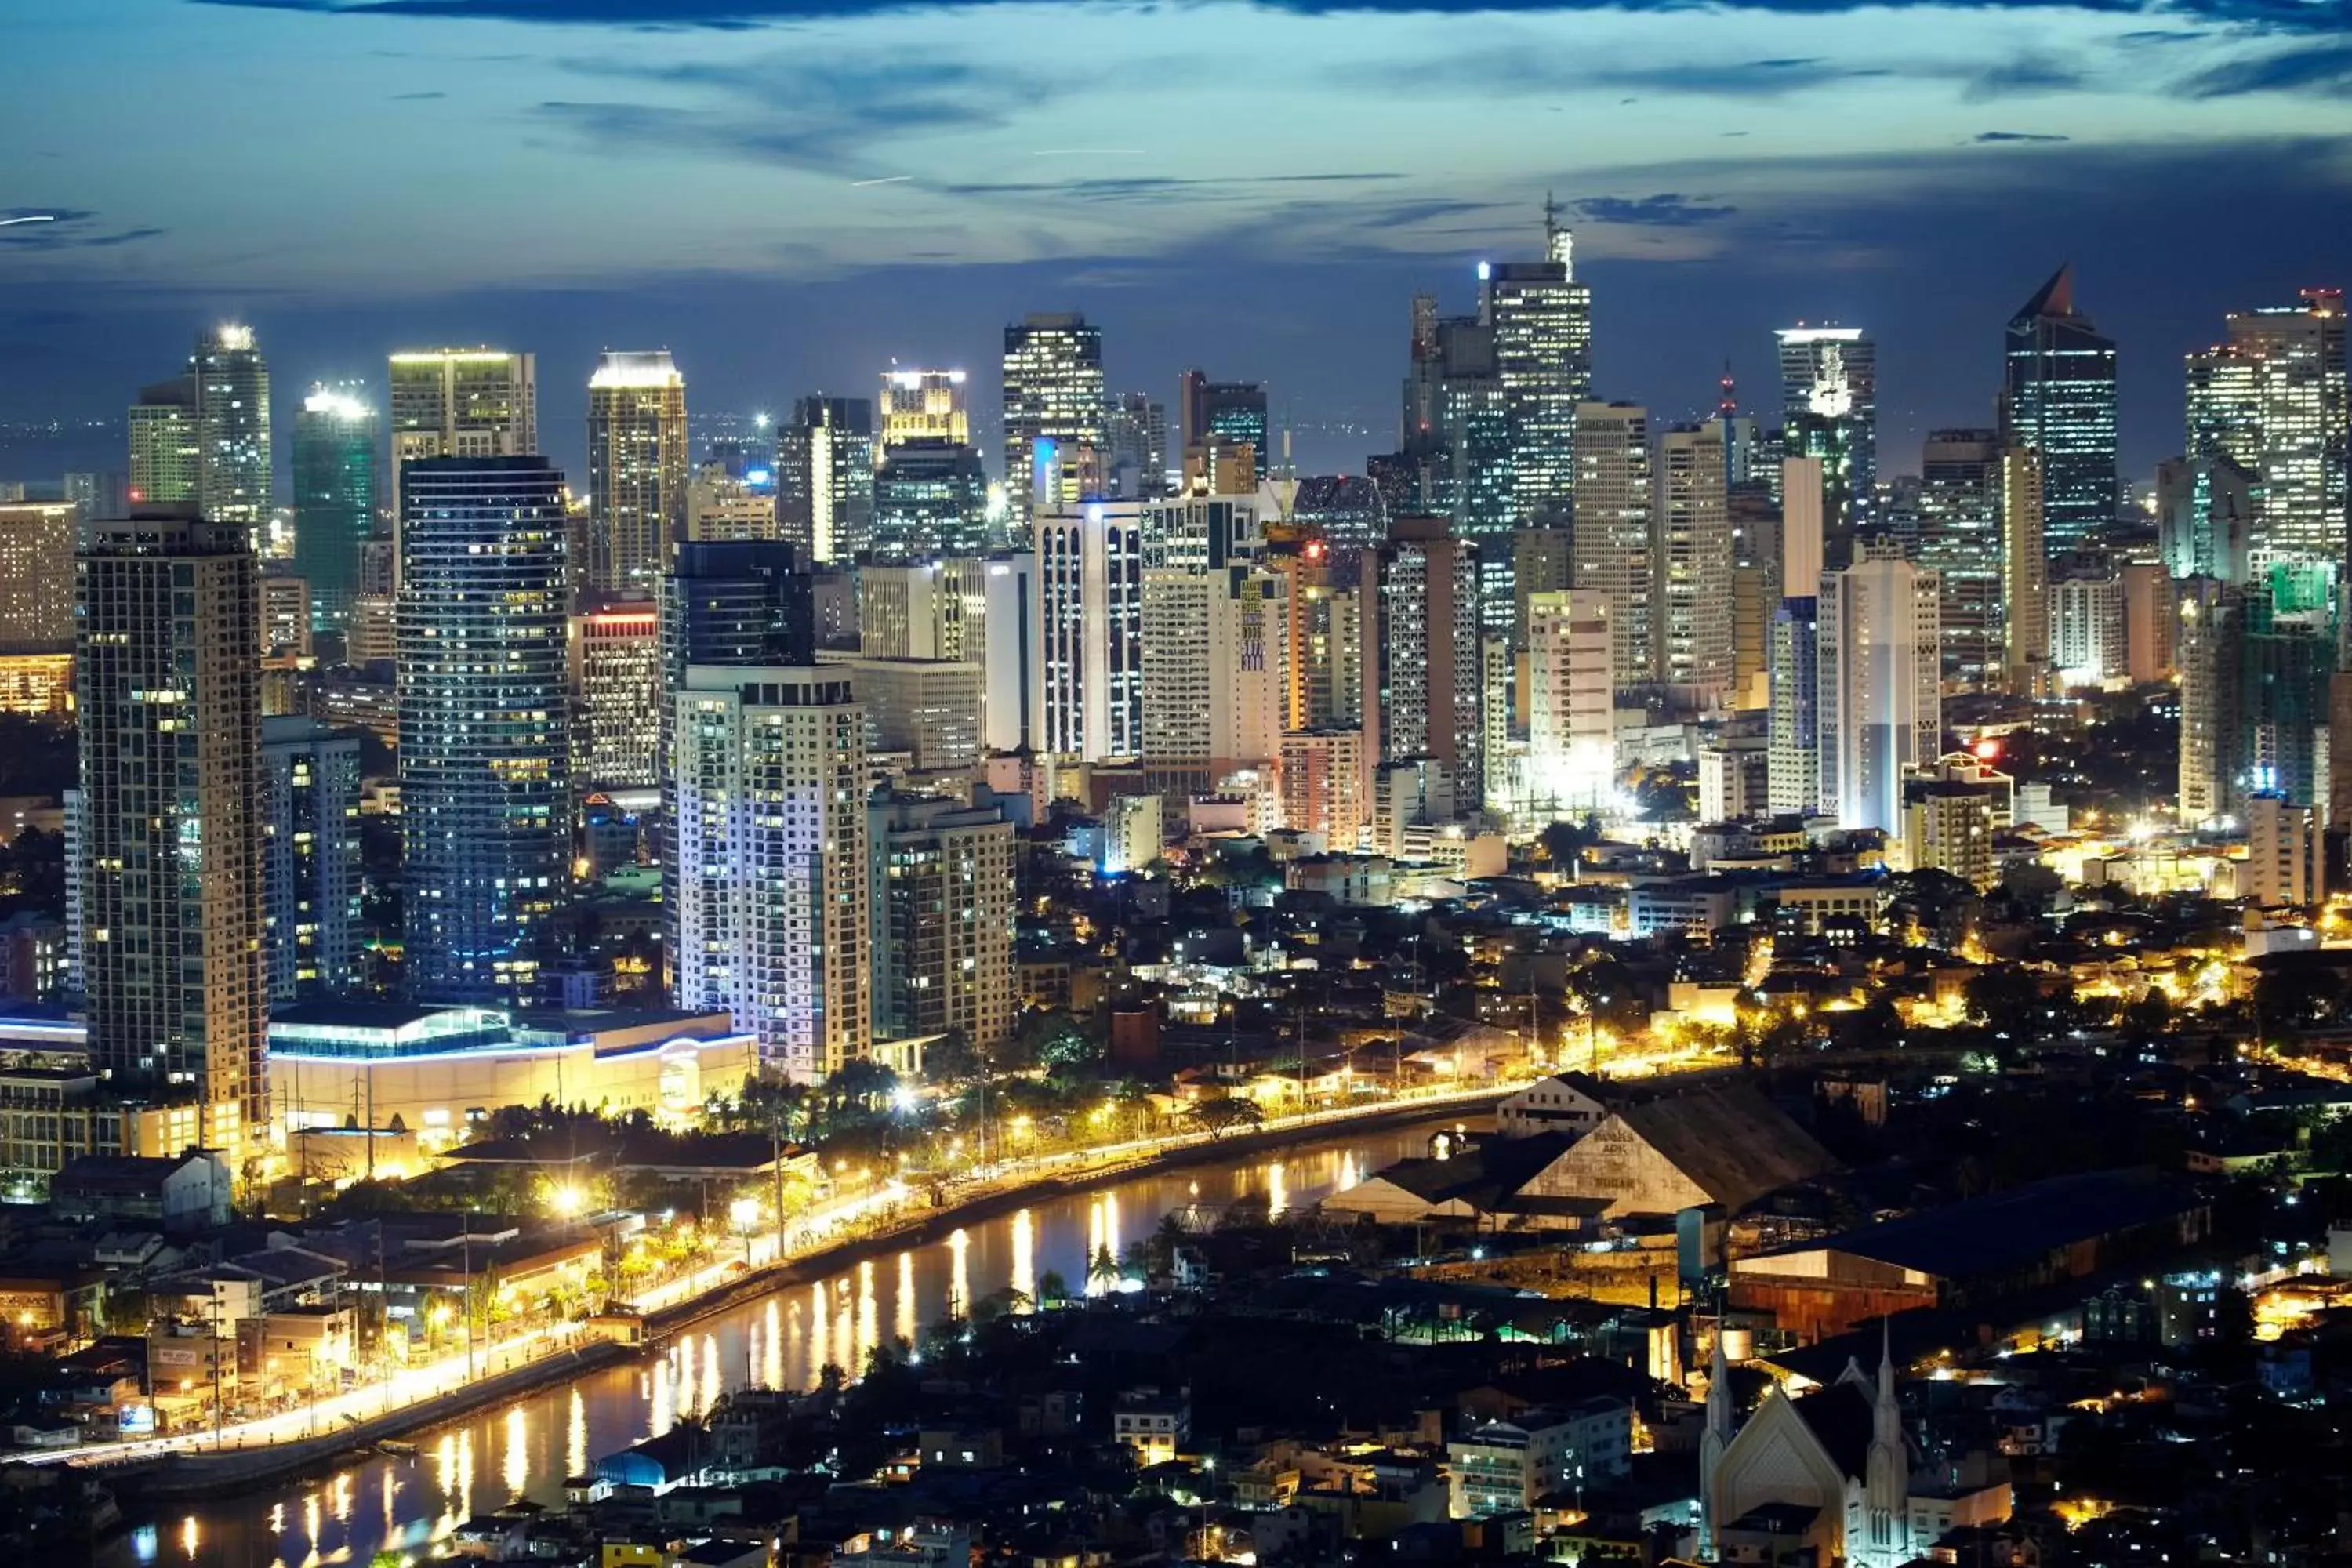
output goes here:
[{"label": "cream tower with dazzling white floodlit base", "polygon": [[1538,816],[1578,816],[1616,788],[1616,672],[1609,595],[1534,592],[1526,599],[1529,799]]}]

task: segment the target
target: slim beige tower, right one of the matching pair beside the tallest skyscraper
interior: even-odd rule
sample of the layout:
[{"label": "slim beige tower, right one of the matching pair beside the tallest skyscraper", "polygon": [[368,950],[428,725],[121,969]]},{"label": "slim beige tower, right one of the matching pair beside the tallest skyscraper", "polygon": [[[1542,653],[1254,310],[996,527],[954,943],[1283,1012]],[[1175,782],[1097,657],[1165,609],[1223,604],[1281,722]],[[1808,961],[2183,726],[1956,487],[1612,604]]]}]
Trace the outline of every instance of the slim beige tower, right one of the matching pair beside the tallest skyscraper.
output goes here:
[{"label": "slim beige tower, right one of the matching pair beside the tallest skyscraper", "polygon": [[1731,696],[1731,501],[1724,430],[1658,437],[1658,679],[1703,708]]}]

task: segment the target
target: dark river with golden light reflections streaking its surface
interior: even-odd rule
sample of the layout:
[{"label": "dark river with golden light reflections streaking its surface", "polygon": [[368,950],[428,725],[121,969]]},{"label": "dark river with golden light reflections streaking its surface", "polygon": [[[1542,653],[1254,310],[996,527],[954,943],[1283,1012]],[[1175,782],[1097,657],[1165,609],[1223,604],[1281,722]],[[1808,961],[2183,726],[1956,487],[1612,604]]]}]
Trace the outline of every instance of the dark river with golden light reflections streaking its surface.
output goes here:
[{"label": "dark river with golden light reflections streaking its surface", "polygon": [[804,1389],[823,1366],[856,1373],[884,1340],[913,1340],[1011,1286],[1035,1295],[1061,1274],[1087,1284],[1087,1260],[1145,1237],[1162,1215],[1263,1197],[1308,1206],[1359,1175],[1418,1154],[1428,1124],[1322,1138],[1232,1164],[1195,1164],[1098,1192],[1056,1197],[943,1241],[880,1251],[830,1279],[783,1286],[673,1335],[661,1354],[588,1373],[416,1434],[414,1460],[367,1460],[327,1481],[174,1507],[99,1554],[101,1568],[219,1563],[223,1568],[365,1568],[383,1547],[426,1556],[461,1521],[510,1497],[562,1507],[564,1476],[710,1408],[724,1389],[760,1382]]}]

